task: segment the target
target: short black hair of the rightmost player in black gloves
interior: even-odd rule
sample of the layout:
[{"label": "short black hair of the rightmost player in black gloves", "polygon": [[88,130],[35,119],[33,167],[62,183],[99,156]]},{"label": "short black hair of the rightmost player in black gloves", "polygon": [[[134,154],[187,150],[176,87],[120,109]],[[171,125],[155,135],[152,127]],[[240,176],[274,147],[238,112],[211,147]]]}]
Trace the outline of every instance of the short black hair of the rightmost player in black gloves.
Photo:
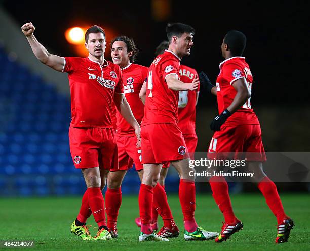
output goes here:
[{"label": "short black hair of the rightmost player in black gloves", "polygon": [[224,37],[224,43],[228,45],[228,49],[234,56],[242,56],[247,38],[245,34],[238,30],[230,30]]}]

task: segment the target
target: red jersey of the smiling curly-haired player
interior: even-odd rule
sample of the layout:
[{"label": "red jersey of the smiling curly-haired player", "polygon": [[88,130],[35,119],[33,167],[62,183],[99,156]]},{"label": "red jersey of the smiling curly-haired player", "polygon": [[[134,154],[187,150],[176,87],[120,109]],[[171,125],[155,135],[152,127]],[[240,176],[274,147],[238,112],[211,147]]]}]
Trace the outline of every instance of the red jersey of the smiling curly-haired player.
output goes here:
[{"label": "red jersey of the smiling curly-haired player", "polygon": [[[132,63],[122,69],[125,97],[139,124],[141,124],[144,113],[144,105],[139,98],[139,93],[147,76],[147,70],[148,68],[145,66]],[[117,133],[120,136],[128,137],[135,135],[134,128],[130,126],[119,111],[117,111]]]}]

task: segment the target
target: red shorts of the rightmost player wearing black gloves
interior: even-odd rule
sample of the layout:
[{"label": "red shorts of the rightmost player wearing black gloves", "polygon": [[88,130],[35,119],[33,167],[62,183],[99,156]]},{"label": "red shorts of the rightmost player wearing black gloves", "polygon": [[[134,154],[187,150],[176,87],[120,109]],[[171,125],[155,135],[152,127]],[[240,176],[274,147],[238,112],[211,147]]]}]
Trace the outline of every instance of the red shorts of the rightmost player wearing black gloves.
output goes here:
[{"label": "red shorts of the rightmost player wearing black gloves", "polygon": [[[233,153],[229,156],[234,159],[266,161],[260,125],[222,126],[211,139],[208,158],[216,158],[216,153]],[[241,153],[244,154],[241,156]]]}]

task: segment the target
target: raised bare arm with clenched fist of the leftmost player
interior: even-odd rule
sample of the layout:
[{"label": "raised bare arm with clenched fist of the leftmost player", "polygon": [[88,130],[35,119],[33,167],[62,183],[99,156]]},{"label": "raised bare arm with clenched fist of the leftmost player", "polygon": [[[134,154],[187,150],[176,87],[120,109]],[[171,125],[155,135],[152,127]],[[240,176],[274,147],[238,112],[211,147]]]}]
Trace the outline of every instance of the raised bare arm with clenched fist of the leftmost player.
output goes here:
[{"label": "raised bare arm with clenched fist of the leftmost player", "polygon": [[61,72],[64,66],[64,59],[57,55],[50,54],[47,49],[36,40],[35,36],[33,35],[35,29],[33,24],[26,23],[21,27],[21,29],[26,36],[35,57],[43,64],[46,64],[54,70]]}]

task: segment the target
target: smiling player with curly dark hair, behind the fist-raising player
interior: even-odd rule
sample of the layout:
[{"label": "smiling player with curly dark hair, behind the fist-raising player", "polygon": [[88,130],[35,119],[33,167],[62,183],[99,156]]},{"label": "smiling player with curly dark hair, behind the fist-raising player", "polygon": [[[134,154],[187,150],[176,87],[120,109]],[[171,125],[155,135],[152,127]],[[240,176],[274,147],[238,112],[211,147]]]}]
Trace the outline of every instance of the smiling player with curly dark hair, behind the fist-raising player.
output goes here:
[{"label": "smiling player with curly dark hair, behind the fist-raising player", "polygon": [[[148,68],[134,64],[138,50],[134,41],[126,36],[119,36],[111,41],[111,57],[115,64],[121,67],[123,72],[123,83],[125,97],[128,100],[133,114],[138,123],[141,123],[144,114],[144,105],[139,99],[139,92],[143,81],[146,78]],[[119,154],[119,169],[111,169],[107,179],[106,212],[108,218],[108,230],[112,237],[117,237],[117,217],[122,202],[121,184],[128,169],[135,168],[142,180],[143,166],[141,164],[141,147],[136,147],[136,137],[134,129],[117,112],[117,145]],[[165,208],[161,210],[165,229],[169,229],[171,234],[166,237],[177,237],[179,230],[175,226],[171,210],[165,201],[162,201],[163,188],[158,185],[154,188],[154,205]],[[167,208],[168,207],[168,208]],[[162,213],[163,212],[163,213]],[[165,212],[165,214],[164,214]],[[168,212],[168,213],[167,213]],[[152,227],[157,230],[156,226]],[[158,238],[158,236],[154,236]]]}]

